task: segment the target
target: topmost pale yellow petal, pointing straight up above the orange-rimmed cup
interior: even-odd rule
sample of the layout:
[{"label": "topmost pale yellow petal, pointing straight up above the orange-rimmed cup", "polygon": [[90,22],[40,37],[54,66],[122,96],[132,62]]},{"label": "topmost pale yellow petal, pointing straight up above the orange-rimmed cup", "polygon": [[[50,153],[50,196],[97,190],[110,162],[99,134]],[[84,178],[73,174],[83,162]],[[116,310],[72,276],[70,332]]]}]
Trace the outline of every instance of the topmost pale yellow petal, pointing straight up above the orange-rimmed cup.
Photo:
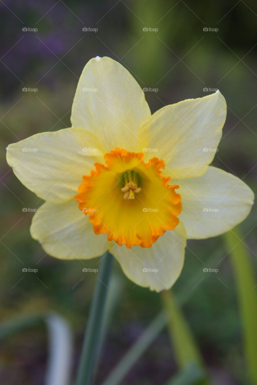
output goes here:
[{"label": "topmost pale yellow petal, pointing straight up above the orange-rimmed cup", "polygon": [[73,101],[73,127],[94,132],[107,151],[136,151],[139,125],[150,114],[144,92],[120,63],[97,57],[86,64]]}]

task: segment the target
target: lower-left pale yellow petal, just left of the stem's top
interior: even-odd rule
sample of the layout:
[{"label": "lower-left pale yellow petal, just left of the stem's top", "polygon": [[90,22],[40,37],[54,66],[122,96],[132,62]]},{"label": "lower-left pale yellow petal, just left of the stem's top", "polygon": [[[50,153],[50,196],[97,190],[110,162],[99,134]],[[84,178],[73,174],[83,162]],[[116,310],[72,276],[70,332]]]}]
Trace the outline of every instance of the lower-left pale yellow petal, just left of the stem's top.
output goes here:
[{"label": "lower-left pale yellow petal, just left of the stem's top", "polygon": [[89,259],[107,250],[106,237],[94,234],[75,200],[44,203],[32,219],[30,233],[46,253],[61,259]]}]

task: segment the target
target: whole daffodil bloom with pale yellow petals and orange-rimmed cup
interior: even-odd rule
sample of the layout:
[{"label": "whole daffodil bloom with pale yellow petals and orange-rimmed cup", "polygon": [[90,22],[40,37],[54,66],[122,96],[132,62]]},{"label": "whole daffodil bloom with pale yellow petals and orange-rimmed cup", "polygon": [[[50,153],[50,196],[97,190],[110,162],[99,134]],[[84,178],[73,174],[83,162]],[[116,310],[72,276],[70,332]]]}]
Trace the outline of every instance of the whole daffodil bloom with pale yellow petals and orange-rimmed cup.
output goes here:
[{"label": "whole daffodil bloom with pale yellow petals and orange-rimmed cup", "polygon": [[225,118],[219,91],[151,115],[121,64],[91,59],[78,82],[72,127],[7,148],[15,175],[46,201],[32,219],[32,238],[63,259],[110,250],[135,284],[170,288],[186,239],[228,231],[253,203],[244,182],[209,166]]}]

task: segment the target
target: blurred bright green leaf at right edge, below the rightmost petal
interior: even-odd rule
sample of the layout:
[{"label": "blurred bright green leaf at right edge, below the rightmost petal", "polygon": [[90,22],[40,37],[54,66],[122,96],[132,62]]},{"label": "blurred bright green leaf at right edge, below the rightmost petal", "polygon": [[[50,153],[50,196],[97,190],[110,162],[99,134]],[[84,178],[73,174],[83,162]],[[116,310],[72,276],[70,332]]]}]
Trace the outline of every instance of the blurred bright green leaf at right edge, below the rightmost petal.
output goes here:
[{"label": "blurred bright green leaf at right edge, below the rightmost petal", "polygon": [[257,384],[257,293],[254,269],[238,228],[224,234],[238,290],[245,358],[252,384]]}]

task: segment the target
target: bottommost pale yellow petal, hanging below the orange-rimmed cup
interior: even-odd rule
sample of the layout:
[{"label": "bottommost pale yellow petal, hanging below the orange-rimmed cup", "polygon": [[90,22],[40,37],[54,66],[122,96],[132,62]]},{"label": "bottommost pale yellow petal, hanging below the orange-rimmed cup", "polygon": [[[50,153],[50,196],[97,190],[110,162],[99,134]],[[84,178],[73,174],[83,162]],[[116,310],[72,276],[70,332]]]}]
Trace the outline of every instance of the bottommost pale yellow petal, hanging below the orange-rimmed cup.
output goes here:
[{"label": "bottommost pale yellow petal, hanging below the orange-rimmed cup", "polygon": [[166,231],[150,248],[131,246],[128,249],[125,245],[115,245],[111,253],[135,285],[161,291],[171,288],[178,279],[183,268],[185,246],[186,231],[180,221],[174,230]]}]

